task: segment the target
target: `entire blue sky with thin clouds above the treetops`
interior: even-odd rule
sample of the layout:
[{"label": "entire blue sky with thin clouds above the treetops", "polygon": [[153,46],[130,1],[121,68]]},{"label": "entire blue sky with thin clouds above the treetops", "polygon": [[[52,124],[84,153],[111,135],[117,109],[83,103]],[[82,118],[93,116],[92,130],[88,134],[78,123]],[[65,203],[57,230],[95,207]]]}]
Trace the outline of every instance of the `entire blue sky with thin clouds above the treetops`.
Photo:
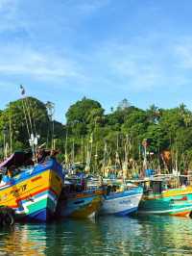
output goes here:
[{"label": "entire blue sky with thin clouds above the treetops", "polygon": [[84,96],[192,110],[191,0],[0,0],[0,109],[26,94],[64,122]]}]

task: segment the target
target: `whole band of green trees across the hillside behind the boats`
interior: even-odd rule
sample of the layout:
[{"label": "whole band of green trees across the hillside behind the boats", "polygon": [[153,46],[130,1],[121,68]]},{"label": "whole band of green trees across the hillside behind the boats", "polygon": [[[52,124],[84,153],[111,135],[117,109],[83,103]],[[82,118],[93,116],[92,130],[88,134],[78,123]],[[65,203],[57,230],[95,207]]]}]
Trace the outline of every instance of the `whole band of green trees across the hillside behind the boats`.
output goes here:
[{"label": "whole band of green trees across the hillside behind the boats", "polygon": [[32,126],[40,135],[39,143],[46,142],[50,146],[51,140],[55,139],[56,147],[60,149],[60,161],[64,160],[66,151],[69,159],[74,155],[76,162],[85,162],[87,148],[90,149],[92,142],[91,165],[102,165],[105,144],[112,164],[117,150],[123,162],[125,143],[128,141],[129,157],[138,160],[142,157],[142,141],[148,139],[149,152],[159,156],[164,150],[170,150],[173,156],[179,155],[180,168],[192,167],[192,113],[183,104],[168,110],[152,105],[144,111],[124,99],[116,109],[111,108],[111,113],[105,115],[99,102],[83,98],[69,107],[66,125],[53,120],[53,107],[51,102],[44,104],[32,97],[9,103],[5,110],[0,111],[0,154],[5,137],[7,141],[11,139],[10,127],[12,147],[29,147],[27,118],[29,129],[32,130]]}]

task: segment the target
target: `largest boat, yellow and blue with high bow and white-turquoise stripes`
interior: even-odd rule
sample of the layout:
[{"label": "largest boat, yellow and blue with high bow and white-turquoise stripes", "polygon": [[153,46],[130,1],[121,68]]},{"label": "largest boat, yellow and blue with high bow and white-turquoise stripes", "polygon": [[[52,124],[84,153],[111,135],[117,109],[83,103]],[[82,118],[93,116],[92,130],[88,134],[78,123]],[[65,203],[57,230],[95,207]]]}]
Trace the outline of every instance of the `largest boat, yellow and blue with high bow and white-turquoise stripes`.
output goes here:
[{"label": "largest boat, yellow and blue with high bow and white-turquoise stripes", "polygon": [[[12,165],[12,159],[15,162],[14,155],[2,163],[0,168]],[[61,171],[56,159],[50,158],[41,164],[20,170],[12,177],[4,174],[0,183],[0,206],[12,208],[17,219],[50,219],[55,214],[62,188]]]}]

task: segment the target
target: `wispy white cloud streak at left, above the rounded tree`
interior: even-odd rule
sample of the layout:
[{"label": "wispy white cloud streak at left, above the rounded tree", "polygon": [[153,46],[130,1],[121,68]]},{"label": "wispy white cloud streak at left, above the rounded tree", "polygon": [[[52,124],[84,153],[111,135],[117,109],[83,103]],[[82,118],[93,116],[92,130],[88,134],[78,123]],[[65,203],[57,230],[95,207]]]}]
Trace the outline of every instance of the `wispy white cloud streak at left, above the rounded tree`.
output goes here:
[{"label": "wispy white cloud streak at left, above the rounded tree", "polygon": [[[63,85],[66,80],[84,80],[76,61],[63,54],[40,52],[29,46],[8,45],[0,47],[0,76],[28,77],[32,81]],[[66,85],[68,86],[68,85]]]}]

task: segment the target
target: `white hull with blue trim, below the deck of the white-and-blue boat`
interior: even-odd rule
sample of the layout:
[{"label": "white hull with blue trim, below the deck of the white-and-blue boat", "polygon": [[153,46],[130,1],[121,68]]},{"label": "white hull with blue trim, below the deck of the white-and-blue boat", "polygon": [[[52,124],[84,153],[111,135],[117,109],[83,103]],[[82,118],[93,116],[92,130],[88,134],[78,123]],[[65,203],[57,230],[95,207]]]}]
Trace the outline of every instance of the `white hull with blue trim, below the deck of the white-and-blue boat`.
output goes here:
[{"label": "white hull with blue trim, below the deck of the white-and-blue boat", "polygon": [[127,216],[137,211],[142,197],[142,189],[136,188],[125,192],[114,192],[106,195],[100,215]]}]

